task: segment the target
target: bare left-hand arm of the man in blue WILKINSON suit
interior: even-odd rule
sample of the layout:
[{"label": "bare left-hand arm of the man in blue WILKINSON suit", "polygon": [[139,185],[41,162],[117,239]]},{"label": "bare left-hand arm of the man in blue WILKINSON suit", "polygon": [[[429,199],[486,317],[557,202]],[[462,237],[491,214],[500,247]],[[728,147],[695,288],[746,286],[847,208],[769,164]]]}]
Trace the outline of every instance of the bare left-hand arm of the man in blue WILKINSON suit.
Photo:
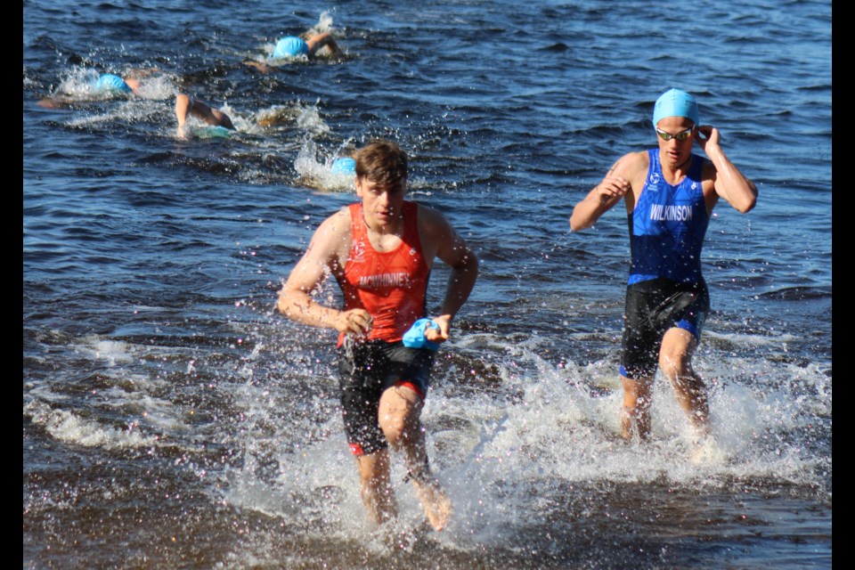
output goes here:
[{"label": "bare left-hand arm of the man in blue WILKINSON suit", "polygon": [[[594,189],[573,208],[570,229],[581,232],[596,224],[599,216],[614,208],[615,204],[634,186],[644,183],[643,176],[646,172],[647,152],[631,152],[623,155],[609,168],[602,182],[594,186]],[[639,173],[641,173],[640,179]],[[632,204],[634,203],[633,199]],[[631,208],[627,209],[631,211]]]}]

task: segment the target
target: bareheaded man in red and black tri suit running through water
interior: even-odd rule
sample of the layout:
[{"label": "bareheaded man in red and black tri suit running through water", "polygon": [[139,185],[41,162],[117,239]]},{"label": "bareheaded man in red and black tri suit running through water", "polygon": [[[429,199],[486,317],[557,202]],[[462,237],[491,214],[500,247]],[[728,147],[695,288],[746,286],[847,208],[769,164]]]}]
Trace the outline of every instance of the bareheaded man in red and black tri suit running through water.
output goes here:
[{"label": "bareheaded man in red and black tri suit running through water", "polygon": [[[419,420],[434,351],[404,346],[403,334],[426,316],[428,275],[438,257],[452,268],[437,329],[448,338],[478,273],[476,256],[433,208],[405,201],[407,157],[395,142],[372,141],[356,155],[356,195],[314,232],[281,289],[277,308],[289,318],[338,330],[338,371],[347,442],[356,457],[362,501],[382,524],[397,514],[389,480],[389,445],[403,452],[408,478],[438,531],[452,512],[428,466]],[[332,274],[344,309],[320,305],[313,294]]]}]

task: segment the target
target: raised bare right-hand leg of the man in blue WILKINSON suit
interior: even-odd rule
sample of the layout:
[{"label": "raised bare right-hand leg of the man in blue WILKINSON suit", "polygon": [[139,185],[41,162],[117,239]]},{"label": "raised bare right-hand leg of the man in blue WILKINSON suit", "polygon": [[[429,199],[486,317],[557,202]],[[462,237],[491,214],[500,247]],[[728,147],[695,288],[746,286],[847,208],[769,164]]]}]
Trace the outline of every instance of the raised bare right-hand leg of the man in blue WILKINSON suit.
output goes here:
[{"label": "raised bare right-hand leg of the man in blue WILKINSON suit", "polygon": [[659,367],[671,380],[680,407],[686,411],[698,434],[705,436],[709,433],[710,409],[704,380],[692,370],[692,353],[696,346],[695,337],[688,330],[669,329],[662,339]]}]

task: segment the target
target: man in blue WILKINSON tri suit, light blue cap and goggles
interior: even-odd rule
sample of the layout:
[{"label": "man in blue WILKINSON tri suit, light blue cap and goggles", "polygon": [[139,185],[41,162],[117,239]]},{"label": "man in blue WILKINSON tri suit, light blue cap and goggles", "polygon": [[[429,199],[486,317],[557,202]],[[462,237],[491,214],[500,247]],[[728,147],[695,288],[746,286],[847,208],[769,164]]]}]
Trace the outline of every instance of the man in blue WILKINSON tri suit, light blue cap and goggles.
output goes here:
[{"label": "man in blue WILKINSON tri suit, light blue cap and goggles", "polygon": [[[721,150],[718,129],[699,124],[694,97],[679,89],[665,92],[656,101],[653,126],[659,148],[618,159],[570,216],[570,227],[578,232],[621,198],[626,204],[631,249],[621,358],[626,439],[633,423],[641,439],[649,436],[657,364],[699,435],[708,433],[704,382],[691,364],[709,311],[701,274],[704,233],[719,198],[741,213],[757,201],[757,187]],[[695,141],[709,159],[692,154]]]}]

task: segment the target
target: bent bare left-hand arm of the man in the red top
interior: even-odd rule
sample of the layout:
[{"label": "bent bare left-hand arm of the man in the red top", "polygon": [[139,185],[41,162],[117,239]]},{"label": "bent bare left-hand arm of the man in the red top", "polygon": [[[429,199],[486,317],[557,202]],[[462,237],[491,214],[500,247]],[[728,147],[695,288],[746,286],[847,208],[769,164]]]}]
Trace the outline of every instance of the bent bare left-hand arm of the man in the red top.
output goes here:
[{"label": "bent bare left-hand arm of the man in the red top", "polygon": [[289,319],[338,332],[362,333],[371,329],[371,314],[364,309],[338,311],[312,297],[330,275],[342,271],[350,250],[350,214],[346,209],[328,217],[312,236],[303,257],[279,291],[276,308]]}]

